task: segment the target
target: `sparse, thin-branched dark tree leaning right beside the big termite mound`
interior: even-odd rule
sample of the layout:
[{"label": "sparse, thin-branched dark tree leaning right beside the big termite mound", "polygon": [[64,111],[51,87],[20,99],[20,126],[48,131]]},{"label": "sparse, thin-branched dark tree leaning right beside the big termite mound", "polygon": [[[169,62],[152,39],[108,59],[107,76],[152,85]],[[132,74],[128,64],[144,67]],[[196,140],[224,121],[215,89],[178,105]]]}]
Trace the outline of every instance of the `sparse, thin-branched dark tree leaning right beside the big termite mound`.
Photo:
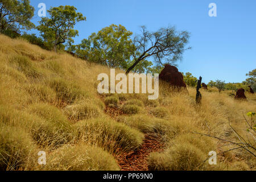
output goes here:
[{"label": "sparse, thin-branched dark tree leaning right beside the big termite mound", "polygon": [[160,28],[156,32],[149,32],[147,28],[141,27],[141,35],[135,36],[132,55],[134,64],[127,69],[128,74],[142,60],[152,57],[156,64],[171,64],[181,59],[188,43],[189,33],[177,32],[175,27]]}]

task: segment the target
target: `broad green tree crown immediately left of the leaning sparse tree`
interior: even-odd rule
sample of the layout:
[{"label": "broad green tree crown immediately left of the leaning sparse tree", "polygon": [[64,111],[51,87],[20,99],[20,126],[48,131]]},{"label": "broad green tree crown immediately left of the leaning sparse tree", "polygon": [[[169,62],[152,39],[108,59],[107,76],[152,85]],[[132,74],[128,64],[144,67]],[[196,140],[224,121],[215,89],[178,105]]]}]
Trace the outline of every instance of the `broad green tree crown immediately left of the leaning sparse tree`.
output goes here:
[{"label": "broad green tree crown immediately left of the leaning sparse tree", "polygon": [[121,24],[112,24],[82,40],[76,53],[94,63],[112,68],[127,68],[131,49],[134,48],[130,38],[132,34]]}]

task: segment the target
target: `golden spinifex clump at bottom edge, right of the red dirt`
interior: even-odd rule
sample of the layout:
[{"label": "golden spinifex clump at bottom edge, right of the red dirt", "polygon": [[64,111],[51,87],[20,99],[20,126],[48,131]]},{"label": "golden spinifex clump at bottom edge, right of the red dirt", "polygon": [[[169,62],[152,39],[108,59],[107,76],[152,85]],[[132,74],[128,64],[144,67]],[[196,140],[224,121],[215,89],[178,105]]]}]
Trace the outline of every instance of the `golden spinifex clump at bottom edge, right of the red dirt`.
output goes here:
[{"label": "golden spinifex clump at bottom edge, right of the red dirt", "polygon": [[213,140],[192,134],[179,135],[165,152],[152,153],[149,168],[164,171],[196,171],[211,168],[207,163],[210,151],[215,150]]}]

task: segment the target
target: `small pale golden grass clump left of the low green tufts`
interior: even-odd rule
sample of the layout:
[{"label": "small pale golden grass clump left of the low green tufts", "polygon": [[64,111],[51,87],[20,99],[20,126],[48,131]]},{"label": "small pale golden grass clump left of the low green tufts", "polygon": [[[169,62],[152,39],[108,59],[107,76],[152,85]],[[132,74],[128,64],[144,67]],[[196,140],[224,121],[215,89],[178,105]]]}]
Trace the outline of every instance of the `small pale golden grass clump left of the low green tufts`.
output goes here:
[{"label": "small pale golden grass clump left of the low green tufts", "polygon": [[82,119],[96,118],[100,114],[100,109],[90,103],[79,102],[79,104],[67,106],[65,113],[69,119],[80,121]]}]

